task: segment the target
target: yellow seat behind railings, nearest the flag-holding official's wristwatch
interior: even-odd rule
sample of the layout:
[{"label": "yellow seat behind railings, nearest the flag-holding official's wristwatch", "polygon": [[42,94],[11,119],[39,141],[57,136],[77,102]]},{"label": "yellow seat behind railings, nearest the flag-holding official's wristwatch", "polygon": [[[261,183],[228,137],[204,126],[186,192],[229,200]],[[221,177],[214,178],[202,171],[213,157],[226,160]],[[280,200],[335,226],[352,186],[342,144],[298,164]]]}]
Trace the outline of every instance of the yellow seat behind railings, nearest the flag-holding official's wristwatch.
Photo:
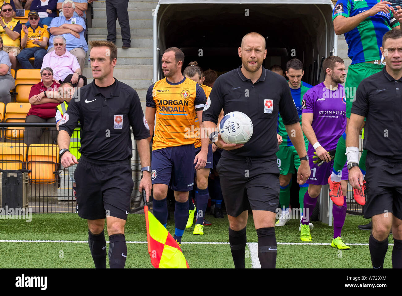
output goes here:
[{"label": "yellow seat behind railings, nearest the flag-holding official's wristwatch", "polygon": [[53,144],[31,144],[28,147],[27,169],[31,183],[55,183],[59,147]]}]

